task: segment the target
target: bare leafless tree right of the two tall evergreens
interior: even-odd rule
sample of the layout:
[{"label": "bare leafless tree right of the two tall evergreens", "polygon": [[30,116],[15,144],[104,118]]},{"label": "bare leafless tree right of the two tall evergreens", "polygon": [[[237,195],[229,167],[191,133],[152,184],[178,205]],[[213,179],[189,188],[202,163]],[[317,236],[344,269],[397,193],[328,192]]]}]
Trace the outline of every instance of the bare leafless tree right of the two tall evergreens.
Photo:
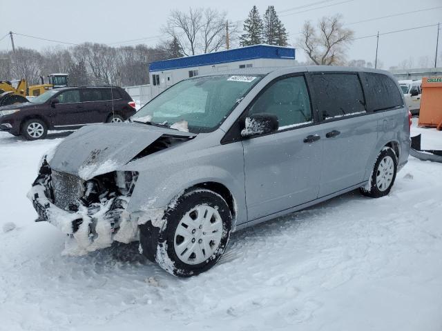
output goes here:
[{"label": "bare leafless tree right of the two tall evergreens", "polygon": [[302,28],[298,46],[317,65],[334,65],[345,61],[345,49],[352,42],[353,30],[343,28],[340,15],[323,17],[318,22],[318,33],[310,21]]}]

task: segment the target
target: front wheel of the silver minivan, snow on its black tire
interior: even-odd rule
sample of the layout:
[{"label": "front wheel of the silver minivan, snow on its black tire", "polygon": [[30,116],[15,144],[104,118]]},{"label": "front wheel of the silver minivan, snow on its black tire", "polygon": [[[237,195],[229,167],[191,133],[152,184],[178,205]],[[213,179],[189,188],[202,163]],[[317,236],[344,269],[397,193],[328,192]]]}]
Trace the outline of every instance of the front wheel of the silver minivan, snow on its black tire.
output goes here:
[{"label": "front wheel of the silver minivan, snow on its black tire", "polygon": [[219,194],[205,189],[186,192],[172,205],[166,210],[164,225],[157,234],[150,221],[140,226],[143,254],[177,277],[209,270],[222,257],[229,242],[229,205]]}]

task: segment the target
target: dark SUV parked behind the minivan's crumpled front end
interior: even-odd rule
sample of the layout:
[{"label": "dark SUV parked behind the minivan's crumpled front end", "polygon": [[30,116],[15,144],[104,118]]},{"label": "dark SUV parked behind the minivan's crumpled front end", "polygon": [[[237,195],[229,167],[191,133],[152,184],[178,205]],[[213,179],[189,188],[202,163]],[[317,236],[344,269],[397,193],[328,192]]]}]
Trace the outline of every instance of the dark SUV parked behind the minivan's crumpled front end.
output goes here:
[{"label": "dark SUV parked behind the minivan's crumpled front end", "polygon": [[48,130],[122,122],[135,112],[135,102],[119,87],[59,88],[28,103],[0,107],[0,130],[28,140],[43,139]]}]

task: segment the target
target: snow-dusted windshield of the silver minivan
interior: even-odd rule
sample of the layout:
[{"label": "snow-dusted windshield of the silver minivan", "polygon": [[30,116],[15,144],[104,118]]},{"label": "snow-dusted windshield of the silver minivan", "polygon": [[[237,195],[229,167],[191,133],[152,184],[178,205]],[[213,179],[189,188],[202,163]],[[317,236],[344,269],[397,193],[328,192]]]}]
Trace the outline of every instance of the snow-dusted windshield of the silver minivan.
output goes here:
[{"label": "snow-dusted windshield of the silver minivan", "polygon": [[193,133],[211,132],[261,78],[219,75],[187,79],[146,103],[131,119]]}]

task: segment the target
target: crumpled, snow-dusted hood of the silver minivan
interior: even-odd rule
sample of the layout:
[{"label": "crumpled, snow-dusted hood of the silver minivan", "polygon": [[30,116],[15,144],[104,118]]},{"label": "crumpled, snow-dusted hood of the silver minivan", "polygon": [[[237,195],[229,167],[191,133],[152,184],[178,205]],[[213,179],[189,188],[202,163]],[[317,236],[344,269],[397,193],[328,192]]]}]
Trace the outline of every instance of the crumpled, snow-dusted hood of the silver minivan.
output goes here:
[{"label": "crumpled, snow-dusted hood of the silver minivan", "polygon": [[[167,148],[171,140],[182,143],[195,136],[142,123],[95,124],[70,134],[46,159],[53,170],[88,180],[118,170],[137,156]],[[160,148],[146,151],[158,141]]]}]

